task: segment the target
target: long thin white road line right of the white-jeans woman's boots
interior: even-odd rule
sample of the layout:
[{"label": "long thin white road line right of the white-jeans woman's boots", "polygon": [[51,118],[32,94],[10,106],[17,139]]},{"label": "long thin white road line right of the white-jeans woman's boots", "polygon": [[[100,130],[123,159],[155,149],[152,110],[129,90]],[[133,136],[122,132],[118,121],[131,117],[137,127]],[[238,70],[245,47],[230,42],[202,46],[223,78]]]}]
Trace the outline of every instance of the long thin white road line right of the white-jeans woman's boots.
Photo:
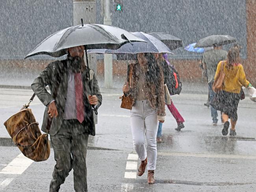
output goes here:
[{"label": "long thin white road line right of the white-jeans woman's boots", "polygon": [[159,152],[158,155],[180,156],[180,157],[202,157],[202,158],[223,158],[223,159],[256,159],[252,155],[226,155],[226,154],[204,154],[204,153],[182,153],[182,152]]}]

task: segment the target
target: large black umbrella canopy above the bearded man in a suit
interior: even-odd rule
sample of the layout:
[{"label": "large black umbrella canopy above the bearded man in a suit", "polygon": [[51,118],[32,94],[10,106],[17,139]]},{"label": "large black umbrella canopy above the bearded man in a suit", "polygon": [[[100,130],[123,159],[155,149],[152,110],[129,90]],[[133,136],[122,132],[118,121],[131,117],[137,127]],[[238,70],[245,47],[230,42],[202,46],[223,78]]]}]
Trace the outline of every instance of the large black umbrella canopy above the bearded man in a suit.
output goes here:
[{"label": "large black umbrella canopy above the bearded man in a suit", "polygon": [[81,24],[58,31],[39,43],[25,59],[33,55],[46,54],[61,57],[70,47],[84,45],[85,49],[117,49],[127,42],[141,41],[132,33],[107,25]]}]

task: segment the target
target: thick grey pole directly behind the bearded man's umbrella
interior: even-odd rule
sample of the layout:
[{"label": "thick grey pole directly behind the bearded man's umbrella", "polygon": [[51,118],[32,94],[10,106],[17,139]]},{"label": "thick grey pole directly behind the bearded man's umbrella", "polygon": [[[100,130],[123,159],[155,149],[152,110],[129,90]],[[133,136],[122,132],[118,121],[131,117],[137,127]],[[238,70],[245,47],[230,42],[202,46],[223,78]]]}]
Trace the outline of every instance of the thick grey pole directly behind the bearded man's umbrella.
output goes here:
[{"label": "thick grey pole directly behind the bearded man's umbrella", "polygon": [[[73,25],[81,24],[81,18],[84,24],[96,23],[96,0],[73,0]],[[97,74],[96,54],[89,54],[88,62]]]}]

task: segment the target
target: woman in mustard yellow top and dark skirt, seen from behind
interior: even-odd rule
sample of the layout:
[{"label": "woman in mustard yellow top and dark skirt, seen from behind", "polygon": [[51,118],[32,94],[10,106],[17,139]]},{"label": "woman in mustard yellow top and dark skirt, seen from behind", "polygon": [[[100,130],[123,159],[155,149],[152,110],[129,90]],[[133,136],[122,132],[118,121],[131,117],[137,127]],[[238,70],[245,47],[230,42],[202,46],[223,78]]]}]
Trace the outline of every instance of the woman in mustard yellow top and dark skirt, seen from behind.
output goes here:
[{"label": "woman in mustard yellow top and dark skirt, seen from behind", "polygon": [[217,78],[219,72],[221,71],[221,65],[224,65],[223,70],[225,73],[225,78],[223,81],[222,90],[217,92],[215,98],[211,102],[211,105],[215,109],[223,112],[223,135],[228,135],[228,128],[230,125],[228,118],[230,118],[231,122],[230,135],[236,135],[235,126],[237,122],[237,106],[239,100],[241,99],[241,89],[242,86],[252,86],[250,82],[247,81],[243,66],[239,63],[239,61],[239,49],[237,47],[230,48],[228,51],[227,60],[219,62],[214,78]]}]

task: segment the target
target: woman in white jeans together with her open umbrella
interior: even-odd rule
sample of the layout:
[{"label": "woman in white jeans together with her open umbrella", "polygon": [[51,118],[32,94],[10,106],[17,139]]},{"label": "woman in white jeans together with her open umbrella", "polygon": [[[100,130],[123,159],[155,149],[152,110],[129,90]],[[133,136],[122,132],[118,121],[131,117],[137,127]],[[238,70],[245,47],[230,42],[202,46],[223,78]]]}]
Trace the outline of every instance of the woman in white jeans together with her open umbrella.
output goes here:
[{"label": "woman in white jeans together with her open umbrella", "polygon": [[92,49],[88,50],[88,53],[116,54],[119,59],[133,59],[135,56],[136,63],[128,65],[127,78],[122,90],[124,96],[129,97],[131,102],[129,105],[132,104],[128,109],[131,108],[133,144],[141,161],[137,175],[143,175],[147,166],[148,183],[154,183],[157,157],[156,134],[158,121],[164,122],[165,119],[165,90],[161,66],[152,53],[172,52],[156,37],[143,32],[133,32],[132,34],[143,39],[147,44],[143,42],[127,43],[117,50]]}]

